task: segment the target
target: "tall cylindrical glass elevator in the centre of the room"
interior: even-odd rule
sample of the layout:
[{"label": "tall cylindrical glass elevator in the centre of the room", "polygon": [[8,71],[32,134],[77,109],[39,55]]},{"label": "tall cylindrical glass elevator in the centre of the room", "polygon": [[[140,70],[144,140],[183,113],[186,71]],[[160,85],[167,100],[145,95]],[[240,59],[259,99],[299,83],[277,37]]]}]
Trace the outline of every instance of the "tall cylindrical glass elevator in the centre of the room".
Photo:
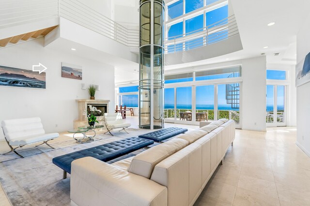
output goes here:
[{"label": "tall cylindrical glass elevator in the centre of the room", "polygon": [[164,127],[164,14],[163,0],[140,0],[139,125]]}]

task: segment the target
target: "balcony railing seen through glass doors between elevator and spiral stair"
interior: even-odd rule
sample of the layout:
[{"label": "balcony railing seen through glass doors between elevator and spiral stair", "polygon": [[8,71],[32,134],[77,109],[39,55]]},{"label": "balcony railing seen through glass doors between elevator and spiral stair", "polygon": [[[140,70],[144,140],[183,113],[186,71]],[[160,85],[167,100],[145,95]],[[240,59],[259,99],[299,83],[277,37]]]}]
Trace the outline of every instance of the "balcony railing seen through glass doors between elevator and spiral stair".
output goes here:
[{"label": "balcony railing seen through glass doors between elevator and spiral stair", "polygon": [[[180,118],[180,112],[189,111],[188,109],[176,109],[176,118]],[[214,120],[214,110],[210,109],[196,109],[196,113],[206,112],[208,120]],[[174,119],[174,109],[164,109],[165,118]],[[236,124],[240,123],[240,113],[234,110],[217,110],[217,119],[227,118],[235,120]]]}]

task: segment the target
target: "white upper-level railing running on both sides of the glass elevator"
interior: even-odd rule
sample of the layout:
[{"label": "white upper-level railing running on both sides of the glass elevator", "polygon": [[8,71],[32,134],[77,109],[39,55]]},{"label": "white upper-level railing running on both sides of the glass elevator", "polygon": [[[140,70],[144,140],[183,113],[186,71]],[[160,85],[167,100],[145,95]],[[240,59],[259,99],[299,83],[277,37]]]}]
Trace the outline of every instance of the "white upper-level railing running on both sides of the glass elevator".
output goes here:
[{"label": "white upper-level railing running on both sides of the glass elevator", "polygon": [[[0,1],[0,29],[61,16],[130,47],[139,47],[140,31],[125,27],[78,0]],[[239,34],[234,15],[212,25],[165,39],[165,53],[214,44]]]}]

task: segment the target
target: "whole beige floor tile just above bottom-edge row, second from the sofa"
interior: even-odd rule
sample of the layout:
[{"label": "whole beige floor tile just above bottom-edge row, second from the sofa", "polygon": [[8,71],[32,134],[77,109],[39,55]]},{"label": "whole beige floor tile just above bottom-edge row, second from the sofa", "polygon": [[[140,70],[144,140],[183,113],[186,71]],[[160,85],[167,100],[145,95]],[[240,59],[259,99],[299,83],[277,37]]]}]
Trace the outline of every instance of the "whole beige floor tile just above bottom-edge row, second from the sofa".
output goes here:
[{"label": "whole beige floor tile just above bottom-edge row, second from the sofa", "polygon": [[263,179],[250,177],[247,175],[240,175],[238,187],[250,191],[255,191],[274,198],[278,198],[275,182],[269,182]]}]

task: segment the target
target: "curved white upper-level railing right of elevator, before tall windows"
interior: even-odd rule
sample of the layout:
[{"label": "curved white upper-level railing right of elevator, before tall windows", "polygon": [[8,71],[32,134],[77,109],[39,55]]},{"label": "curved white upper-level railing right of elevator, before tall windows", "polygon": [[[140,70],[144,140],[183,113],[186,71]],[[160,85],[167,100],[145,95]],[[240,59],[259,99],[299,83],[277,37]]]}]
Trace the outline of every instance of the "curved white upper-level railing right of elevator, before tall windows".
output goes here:
[{"label": "curved white upper-level railing right of elevator, before tall windows", "polygon": [[214,44],[239,34],[234,15],[224,18],[202,29],[165,39],[165,53],[186,51]]}]

